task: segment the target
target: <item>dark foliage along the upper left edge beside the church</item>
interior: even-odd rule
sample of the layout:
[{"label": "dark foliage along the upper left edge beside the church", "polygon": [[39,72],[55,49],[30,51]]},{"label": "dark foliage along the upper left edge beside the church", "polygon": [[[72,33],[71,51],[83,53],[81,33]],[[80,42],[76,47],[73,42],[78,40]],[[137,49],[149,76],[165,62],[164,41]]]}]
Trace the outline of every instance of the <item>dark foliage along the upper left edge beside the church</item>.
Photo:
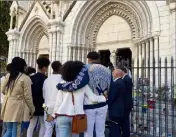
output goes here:
[{"label": "dark foliage along the upper left edge beside the church", "polygon": [[0,1],[0,56],[7,57],[8,55],[8,40],[6,32],[10,26],[10,15],[9,10],[12,2],[11,1]]}]

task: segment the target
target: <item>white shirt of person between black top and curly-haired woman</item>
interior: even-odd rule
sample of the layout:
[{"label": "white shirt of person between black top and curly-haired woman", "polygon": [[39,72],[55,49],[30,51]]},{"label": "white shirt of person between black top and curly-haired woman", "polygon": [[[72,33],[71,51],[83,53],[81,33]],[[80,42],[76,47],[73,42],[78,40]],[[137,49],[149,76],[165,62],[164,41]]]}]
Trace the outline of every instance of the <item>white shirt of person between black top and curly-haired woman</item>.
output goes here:
[{"label": "white shirt of person between black top and curly-haired woman", "polygon": [[62,78],[60,74],[52,74],[45,80],[43,84],[43,98],[45,100],[45,105],[50,109],[54,109],[57,93],[59,92],[59,90],[56,88],[56,85],[61,81]]}]

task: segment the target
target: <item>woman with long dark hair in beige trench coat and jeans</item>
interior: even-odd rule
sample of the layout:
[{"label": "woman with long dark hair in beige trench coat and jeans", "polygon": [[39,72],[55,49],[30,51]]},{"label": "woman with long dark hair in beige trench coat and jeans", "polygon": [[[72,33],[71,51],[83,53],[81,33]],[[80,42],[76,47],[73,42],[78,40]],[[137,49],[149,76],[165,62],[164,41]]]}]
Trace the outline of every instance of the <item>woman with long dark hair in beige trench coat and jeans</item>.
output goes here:
[{"label": "woman with long dark hair in beige trench coat and jeans", "polygon": [[3,137],[20,136],[21,122],[29,121],[35,111],[31,80],[24,74],[26,66],[24,59],[13,58],[11,71],[1,85],[1,92],[4,94],[1,118],[7,125]]}]

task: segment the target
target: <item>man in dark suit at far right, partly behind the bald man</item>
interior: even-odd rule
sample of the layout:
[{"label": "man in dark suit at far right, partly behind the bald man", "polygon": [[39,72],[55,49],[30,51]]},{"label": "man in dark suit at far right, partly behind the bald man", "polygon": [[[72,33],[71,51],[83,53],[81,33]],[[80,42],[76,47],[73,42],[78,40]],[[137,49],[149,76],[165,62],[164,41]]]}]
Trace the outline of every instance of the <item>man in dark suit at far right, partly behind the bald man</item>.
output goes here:
[{"label": "man in dark suit at far right, partly behind the bald man", "polygon": [[122,127],[122,137],[130,137],[130,113],[133,108],[133,98],[132,98],[133,82],[127,73],[127,69],[125,67],[121,67],[120,69],[122,70],[122,80],[126,88],[124,98],[125,103],[124,116],[120,120],[120,125]]}]

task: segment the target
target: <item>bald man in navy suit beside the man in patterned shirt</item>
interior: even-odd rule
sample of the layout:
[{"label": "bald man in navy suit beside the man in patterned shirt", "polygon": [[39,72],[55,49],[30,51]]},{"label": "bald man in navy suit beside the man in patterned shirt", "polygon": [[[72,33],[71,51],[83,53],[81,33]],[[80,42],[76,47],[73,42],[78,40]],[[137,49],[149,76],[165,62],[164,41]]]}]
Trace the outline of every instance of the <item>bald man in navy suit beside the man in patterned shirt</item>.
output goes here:
[{"label": "bald man in navy suit beside the man in patterned shirt", "polygon": [[121,78],[122,71],[116,69],[113,71],[114,83],[108,94],[109,119],[110,119],[110,134],[109,137],[121,137],[121,125],[119,121],[124,115],[124,98],[125,84]]}]

